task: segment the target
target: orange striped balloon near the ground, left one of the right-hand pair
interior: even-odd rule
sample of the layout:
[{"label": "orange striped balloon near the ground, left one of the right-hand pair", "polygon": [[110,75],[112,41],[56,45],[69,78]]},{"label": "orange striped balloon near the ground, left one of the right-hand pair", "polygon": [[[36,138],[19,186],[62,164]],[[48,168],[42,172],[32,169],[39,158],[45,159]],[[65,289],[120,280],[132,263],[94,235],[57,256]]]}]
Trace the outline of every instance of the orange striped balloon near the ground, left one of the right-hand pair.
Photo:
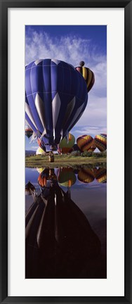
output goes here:
[{"label": "orange striped balloon near the ground, left one of the right-hand pair", "polygon": [[77,138],[77,146],[79,146],[81,152],[88,151],[93,146],[93,141],[91,135],[81,135]]}]

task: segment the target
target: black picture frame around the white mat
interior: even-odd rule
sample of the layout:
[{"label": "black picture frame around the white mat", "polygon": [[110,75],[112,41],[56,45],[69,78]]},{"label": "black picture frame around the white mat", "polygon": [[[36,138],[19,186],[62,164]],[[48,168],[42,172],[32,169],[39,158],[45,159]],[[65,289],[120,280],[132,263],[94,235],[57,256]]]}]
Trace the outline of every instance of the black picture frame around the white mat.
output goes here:
[{"label": "black picture frame around the white mat", "polygon": [[[1,202],[0,202],[0,302],[1,303],[132,303],[132,265],[131,265],[131,172],[132,172],[132,0],[67,0],[67,1],[44,1],[44,0],[0,0],[1,22],[1,53],[0,53],[0,161],[1,161]],[[125,294],[121,296],[107,297],[8,297],[8,8],[124,8],[125,13]],[[118,20],[117,20],[118,22]],[[121,33],[120,33],[121,34]],[[120,143],[121,144],[121,143]],[[117,240],[118,241],[118,240]],[[117,282],[118,284],[118,282]]]}]

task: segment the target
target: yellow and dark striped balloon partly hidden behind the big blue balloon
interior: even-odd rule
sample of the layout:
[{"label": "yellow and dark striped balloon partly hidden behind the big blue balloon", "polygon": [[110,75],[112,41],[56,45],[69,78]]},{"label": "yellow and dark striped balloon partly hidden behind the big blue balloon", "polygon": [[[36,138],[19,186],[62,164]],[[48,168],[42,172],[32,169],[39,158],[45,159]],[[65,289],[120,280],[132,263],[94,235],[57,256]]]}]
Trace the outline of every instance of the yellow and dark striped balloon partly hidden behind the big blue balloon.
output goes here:
[{"label": "yellow and dark striped balloon partly hidden behind the big blue balloon", "polygon": [[93,72],[89,68],[84,67],[84,64],[85,64],[84,61],[81,61],[79,63],[80,66],[77,67],[76,70],[78,70],[78,72],[80,72],[81,75],[83,75],[84,79],[86,80],[87,89],[88,91],[90,91],[95,82],[95,77]]}]

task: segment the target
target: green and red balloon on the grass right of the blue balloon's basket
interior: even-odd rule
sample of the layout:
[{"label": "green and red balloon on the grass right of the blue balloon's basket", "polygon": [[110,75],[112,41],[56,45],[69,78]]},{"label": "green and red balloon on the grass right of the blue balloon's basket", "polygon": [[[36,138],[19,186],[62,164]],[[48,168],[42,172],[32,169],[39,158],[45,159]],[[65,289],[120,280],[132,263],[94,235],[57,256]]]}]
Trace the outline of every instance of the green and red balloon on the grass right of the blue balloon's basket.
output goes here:
[{"label": "green and red balloon on the grass right of the blue balloon's basket", "polygon": [[73,150],[73,146],[74,146],[74,141],[75,141],[75,138],[74,136],[69,133],[69,138],[68,138],[68,141],[66,138],[62,139],[62,141],[60,141],[60,144],[59,144],[59,148],[60,148],[60,152],[61,153],[69,153]]}]

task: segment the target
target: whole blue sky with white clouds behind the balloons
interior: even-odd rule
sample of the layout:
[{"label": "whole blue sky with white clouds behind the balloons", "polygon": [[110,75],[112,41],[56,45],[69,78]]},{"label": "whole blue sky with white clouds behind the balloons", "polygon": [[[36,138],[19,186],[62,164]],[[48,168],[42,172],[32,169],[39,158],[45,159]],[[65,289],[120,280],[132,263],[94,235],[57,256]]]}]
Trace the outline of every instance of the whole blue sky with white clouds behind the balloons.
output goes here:
[{"label": "whole blue sky with white clouds behind the balloons", "polygon": [[[95,136],[107,133],[107,26],[106,25],[26,25],[25,64],[40,58],[57,58],[78,66],[80,61],[95,74],[88,93],[88,104],[71,130]],[[37,150],[37,143],[25,140],[26,150]]]}]

